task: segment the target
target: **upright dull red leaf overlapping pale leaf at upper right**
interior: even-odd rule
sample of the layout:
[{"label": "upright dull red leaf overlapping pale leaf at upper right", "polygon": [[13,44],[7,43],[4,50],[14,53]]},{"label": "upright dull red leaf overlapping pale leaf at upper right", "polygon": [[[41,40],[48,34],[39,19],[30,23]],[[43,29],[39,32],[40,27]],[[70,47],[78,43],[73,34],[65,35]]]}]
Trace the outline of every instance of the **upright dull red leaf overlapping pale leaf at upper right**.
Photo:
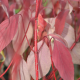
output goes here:
[{"label": "upright dull red leaf overlapping pale leaf at upper right", "polygon": [[56,21],[55,21],[55,32],[57,34],[60,34],[60,35],[62,34],[68,12],[69,10],[62,10],[57,16]]}]

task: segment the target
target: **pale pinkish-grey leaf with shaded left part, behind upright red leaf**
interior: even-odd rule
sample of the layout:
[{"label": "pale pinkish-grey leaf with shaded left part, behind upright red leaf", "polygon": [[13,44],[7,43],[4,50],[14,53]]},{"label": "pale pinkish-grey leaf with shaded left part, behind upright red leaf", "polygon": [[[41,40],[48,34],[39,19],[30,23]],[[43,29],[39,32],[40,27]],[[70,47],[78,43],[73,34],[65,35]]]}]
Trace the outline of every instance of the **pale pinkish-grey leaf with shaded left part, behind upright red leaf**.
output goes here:
[{"label": "pale pinkish-grey leaf with shaded left part, behind upright red leaf", "polygon": [[66,42],[68,43],[68,48],[70,48],[75,41],[74,28],[65,23],[65,27],[61,36],[66,40]]}]

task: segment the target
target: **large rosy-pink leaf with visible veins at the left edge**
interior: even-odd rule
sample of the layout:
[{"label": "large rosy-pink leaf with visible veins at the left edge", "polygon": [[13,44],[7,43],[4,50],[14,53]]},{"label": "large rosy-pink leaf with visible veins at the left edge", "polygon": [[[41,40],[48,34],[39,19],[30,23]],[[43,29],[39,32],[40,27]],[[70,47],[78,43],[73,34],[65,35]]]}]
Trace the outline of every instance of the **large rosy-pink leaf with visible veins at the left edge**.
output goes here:
[{"label": "large rosy-pink leaf with visible veins at the left edge", "polygon": [[8,19],[0,24],[0,51],[2,51],[13,39],[18,24],[18,15],[10,17],[10,23]]}]

